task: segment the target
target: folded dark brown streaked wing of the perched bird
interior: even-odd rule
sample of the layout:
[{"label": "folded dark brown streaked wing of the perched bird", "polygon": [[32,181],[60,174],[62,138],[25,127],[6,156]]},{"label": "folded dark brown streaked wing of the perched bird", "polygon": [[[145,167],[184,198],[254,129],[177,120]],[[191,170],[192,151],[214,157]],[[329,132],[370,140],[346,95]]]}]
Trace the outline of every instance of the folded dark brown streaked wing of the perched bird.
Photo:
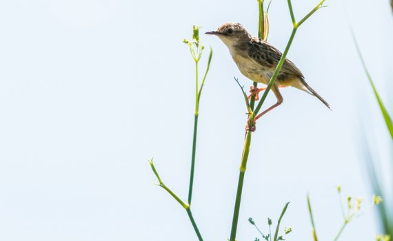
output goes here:
[{"label": "folded dark brown streaked wing of the perched bird", "polygon": [[[275,69],[282,55],[279,50],[268,42],[262,41],[261,39],[252,39],[250,41],[248,57],[260,65]],[[280,72],[282,74],[304,78],[299,68],[289,59],[285,59]]]}]

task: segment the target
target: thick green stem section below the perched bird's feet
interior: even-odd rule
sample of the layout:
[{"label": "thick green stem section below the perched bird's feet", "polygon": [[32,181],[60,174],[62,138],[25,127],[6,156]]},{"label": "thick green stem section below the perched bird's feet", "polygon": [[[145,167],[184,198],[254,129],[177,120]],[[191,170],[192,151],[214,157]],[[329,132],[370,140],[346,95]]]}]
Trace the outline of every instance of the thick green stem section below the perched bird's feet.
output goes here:
[{"label": "thick green stem section below the perched bird's feet", "polygon": [[244,181],[245,169],[247,169],[248,154],[250,154],[251,135],[252,132],[248,131],[244,140],[244,149],[243,149],[243,156],[241,158],[239,182],[237,184],[237,191],[236,191],[236,201],[234,203],[230,241],[235,241],[236,239],[237,223],[239,220],[240,203],[241,203],[241,193],[243,192],[243,181]]}]

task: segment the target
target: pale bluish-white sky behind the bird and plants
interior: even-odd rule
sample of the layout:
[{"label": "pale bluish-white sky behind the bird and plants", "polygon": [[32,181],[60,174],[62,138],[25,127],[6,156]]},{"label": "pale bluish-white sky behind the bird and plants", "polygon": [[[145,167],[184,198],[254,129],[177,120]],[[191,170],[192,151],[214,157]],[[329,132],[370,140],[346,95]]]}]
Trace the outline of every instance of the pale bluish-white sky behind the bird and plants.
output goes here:
[{"label": "pale bluish-white sky behind the bird and plants", "polygon": [[[292,4],[300,20],[317,1]],[[335,185],[370,205],[361,125],[374,153],[391,157],[343,4],[326,5],[301,26],[288,57],[333,111],[304,92],[281,91],[283,105],[253,135],[238,240],[257,236],[248,217],[266,231],[287,201],[288,240],[312,240],[308,192],[318,234],[332,240],[343,222]],[[392,112],[392,11],[383,0],[345,5]],[[207,32],[236,21],[256,35],[257,14],[255,0],[0,1],[0,240],[196,240],[185,211],[153,185],[147,160],[154,156],[165,184],[185,199],[194,63],[182,41],[195,23]],[[286,1],[274,0],[270,43],[283,50],[291,30]],[[252,82],[218,38],[201,41],[214,55],[201,96],[193,212],[205,240],[226,240],[246,120],[233,77],[247,89]],[[366,211],[341,240],[376,233]]]}]

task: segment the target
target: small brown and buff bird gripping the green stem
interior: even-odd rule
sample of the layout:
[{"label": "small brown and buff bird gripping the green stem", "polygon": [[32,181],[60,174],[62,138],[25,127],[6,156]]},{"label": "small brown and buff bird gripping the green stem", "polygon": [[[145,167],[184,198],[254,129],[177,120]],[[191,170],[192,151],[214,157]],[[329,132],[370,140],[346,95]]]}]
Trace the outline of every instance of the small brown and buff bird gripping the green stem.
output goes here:
[{"label": "small brown and buff bird gripping the green stem", "polygon": [[[223,23],[217,30],[206,32],[205,34],[218,36],[225,43],[232,59],[244,76],[250,78],[252,81],[268,85],[283,55],[278,49],[267,41],[263,41],[249,34],[240,23]],[[277,102],[261,114],[255,116],[254,121],[283,103],[283,96],[279,91],[279,87],[288,86],[316,96],[316,98],[319,98],[330,109],[328,102],[305,82],[305,77],[299,68],[289,59],[285,59],[279,75],[271,88],[276,96]],[[265,90],[265,88],[255,88],[254,86],[250,89],[252,93],[250,96],[256,95],[256,100],[259,99],[259,92]]]}]

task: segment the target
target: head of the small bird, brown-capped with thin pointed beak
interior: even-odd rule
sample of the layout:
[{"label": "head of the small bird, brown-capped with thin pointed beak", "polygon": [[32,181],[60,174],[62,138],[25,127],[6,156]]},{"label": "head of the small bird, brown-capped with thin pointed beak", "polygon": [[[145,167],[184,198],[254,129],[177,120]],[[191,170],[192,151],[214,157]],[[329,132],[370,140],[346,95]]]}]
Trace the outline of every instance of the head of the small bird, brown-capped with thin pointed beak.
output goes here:
[{"label": "head of the small bird, brown-capped with thin pointed beak", "polygon": [[240,23],[224,23],[216,31],[205,34],[218,36],[228,47],[248,42],[252,37]]}]

